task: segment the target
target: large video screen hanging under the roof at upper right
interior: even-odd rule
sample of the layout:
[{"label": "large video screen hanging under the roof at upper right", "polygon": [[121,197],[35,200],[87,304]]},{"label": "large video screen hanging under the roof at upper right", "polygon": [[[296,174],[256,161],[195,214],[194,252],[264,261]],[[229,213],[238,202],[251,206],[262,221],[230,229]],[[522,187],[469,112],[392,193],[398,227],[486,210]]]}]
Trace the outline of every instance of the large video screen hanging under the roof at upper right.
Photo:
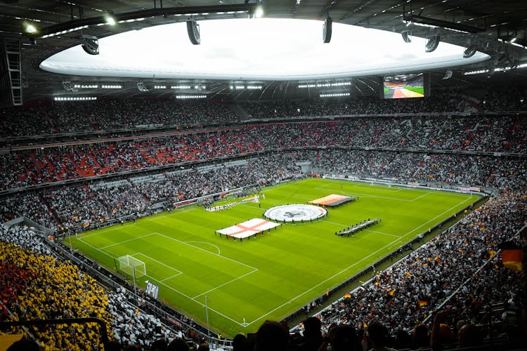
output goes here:
[{"label": "large video screen hanging under the roof at upper right", "polygon": [[424,98],[423,74],[400,74],[384,77],[384,98]]}]

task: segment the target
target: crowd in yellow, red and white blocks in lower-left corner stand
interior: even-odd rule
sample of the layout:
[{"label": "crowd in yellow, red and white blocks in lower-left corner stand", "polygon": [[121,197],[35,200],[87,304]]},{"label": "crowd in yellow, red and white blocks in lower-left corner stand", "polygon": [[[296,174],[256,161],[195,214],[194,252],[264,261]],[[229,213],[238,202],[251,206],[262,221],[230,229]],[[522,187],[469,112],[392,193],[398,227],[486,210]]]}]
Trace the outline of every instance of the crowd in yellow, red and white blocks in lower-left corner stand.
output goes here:
[{"label": "crowd in yellow, red and white blocks in lower-left corner stand", "polygon": [[[27,227],[0,225],[0,241],[1,321],[98,317],[108,326],[110,340],[120,345],[146,347],[157,338],[184,336],[182,330],[169,329],[132,305],[134,298],[126,289],[103,289]],[[28,331],[44,350],[102,350],[95,324],[35,326]]]}]

